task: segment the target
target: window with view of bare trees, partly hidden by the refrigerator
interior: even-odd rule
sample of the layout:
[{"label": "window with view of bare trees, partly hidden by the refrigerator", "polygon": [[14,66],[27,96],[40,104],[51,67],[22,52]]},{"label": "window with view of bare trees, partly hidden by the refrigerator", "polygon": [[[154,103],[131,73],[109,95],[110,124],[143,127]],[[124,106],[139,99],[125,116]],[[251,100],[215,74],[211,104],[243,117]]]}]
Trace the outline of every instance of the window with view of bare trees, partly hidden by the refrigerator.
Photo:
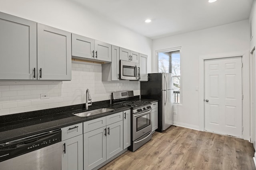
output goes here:
[{"label": "window with view of bare trees, partly hidden by the refrigerator", "polygon": [[158,51],[158,72],[173,73],[173,101],[181,103],[180,48]]}]

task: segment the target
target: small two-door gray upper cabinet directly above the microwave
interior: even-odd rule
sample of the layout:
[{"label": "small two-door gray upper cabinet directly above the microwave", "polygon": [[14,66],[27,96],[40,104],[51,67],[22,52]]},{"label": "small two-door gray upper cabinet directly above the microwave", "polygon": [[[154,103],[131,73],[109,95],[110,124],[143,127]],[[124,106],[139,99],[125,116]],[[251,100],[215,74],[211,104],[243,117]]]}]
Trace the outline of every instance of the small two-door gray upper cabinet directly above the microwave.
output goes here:
[{"label": "small two-door gray upper cabinet directly above the microwave", "polygon": [[120,60],[140,63],[139,53],[120,47]]}]

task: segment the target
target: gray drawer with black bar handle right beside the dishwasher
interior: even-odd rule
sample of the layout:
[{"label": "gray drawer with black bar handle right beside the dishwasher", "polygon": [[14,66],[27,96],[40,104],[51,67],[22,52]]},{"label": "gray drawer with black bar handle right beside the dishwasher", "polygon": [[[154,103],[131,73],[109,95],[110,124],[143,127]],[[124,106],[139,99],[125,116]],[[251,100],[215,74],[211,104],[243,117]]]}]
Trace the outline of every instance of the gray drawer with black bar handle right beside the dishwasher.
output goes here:
[{"label": "gray drawer with black bar handle right beside the dishwasher", "polygon": [[61,128],[62,141],[83,134],[83,124],[78,123]]}]

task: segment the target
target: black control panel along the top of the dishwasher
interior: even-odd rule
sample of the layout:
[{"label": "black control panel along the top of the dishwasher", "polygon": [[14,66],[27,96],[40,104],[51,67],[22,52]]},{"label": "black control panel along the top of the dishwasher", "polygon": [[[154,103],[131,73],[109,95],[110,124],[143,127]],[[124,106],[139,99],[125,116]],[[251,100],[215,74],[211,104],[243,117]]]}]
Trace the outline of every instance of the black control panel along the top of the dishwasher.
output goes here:
[{"label": "black control panel along the top of the dishwasher", "polygon": [[0,162],[41,149],[61,141],[61,130],[56,129],[0,144]]}]

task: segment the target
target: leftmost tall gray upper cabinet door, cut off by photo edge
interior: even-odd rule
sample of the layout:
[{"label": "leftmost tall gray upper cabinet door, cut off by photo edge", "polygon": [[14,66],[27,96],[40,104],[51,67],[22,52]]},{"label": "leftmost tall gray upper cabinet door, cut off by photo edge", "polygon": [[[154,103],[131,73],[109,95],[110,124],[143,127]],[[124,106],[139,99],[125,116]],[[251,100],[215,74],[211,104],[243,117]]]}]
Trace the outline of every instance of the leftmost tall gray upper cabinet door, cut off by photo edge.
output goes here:
[{"label": "leftmost tall gray upper cabinet door, cut off by photo edge", "polygon": [[0,12],[0,80],[36,80],[36,22]]}]

